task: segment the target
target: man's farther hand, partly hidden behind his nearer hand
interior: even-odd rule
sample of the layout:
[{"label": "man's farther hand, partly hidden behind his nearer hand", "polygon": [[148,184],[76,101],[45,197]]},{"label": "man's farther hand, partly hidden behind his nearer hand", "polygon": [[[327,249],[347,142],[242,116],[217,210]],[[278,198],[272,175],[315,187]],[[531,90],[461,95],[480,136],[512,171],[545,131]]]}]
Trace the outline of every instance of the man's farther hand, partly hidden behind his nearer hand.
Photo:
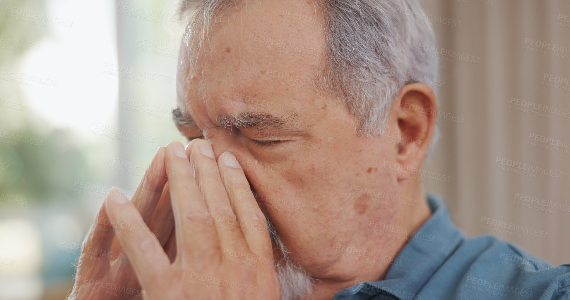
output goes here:
[{"label": "man's farther hand, partly hidden behind his nearer hand", "polygon": [[[174,216],[170,191],[166,182],[168,173],[164,166],[165,150],[166,147],[162,146],[154,155],[131,199],[131,206],[150,227],[144,234],[156,235],[157,243],[164,248],[170,259],[174,260],[176,235],[173,231]],[[113,201],[122,195],[120,190],[112,188],[105,202]],[[141,286],[118,237],[109,221],[107,206],[103,204],[83,241],[75,284],[67,299],[143,298]]]}]

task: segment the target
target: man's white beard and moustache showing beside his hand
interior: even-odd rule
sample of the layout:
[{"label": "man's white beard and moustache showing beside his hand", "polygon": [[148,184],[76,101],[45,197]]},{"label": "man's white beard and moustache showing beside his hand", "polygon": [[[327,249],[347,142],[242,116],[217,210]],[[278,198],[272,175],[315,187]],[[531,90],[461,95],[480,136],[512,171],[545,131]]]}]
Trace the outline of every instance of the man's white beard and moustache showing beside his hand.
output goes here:
[{"label": "man's white beard and moustache showing beside his hand", "polygon": [[310,295],[313,290],[313,278],[308,276],[306,270],[296,264],[289,256],[283,241],[279,237],[275,226],[267,218],[267,228],[271,236],[271,243],[278,248],[282,258],[275,261],[275,269],[281,285],[281,300],[298,300],[305,295]]}]

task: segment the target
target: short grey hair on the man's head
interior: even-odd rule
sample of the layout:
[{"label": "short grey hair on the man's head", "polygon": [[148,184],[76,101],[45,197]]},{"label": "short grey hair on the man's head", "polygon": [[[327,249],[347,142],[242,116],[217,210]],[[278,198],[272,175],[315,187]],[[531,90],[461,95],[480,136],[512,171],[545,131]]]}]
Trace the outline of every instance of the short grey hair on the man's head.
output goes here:
[{"label": "short grey hair on the man's head", "polygon": [[[178,13],[188,24],[184,43],[197,42],[201,48],[203,39],[209,37],[208,25],[220,22],[227,10],[239,3],[247,5],[249,1],[181,0]],[[344,101],[355,117],[360,137],[385,133],[392,101],[400,89],[411,83],[429,84],[437,77],[437,55],[417,47],[435,46],[429,19],[418,0],[315,3],[324,12],[321,23],[326,37],[317,86]],[[193,65],[192,57],[190,60],[186,63]],[[437,85],[431,87],[437,92]],[[437,138],[436,126],[428,156]]]}]

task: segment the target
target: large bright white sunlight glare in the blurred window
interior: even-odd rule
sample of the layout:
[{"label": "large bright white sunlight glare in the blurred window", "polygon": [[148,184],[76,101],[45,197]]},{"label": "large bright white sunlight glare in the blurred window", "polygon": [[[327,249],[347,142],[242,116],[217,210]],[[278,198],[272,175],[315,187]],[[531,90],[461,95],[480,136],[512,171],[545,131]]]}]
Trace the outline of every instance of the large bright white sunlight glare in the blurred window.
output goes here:
[{"label": "large bright white sunlight glare in the blurred window", "polygon": [[86,120],[107,122],[115,116],[118,80],[103,73],[104,64],[117,60],[114,4],[71,0],[47,3],[49,17],[68,18],[74,23],[72,28],[52,26],[52,34],[39,42],[39,51],[23,57],[21,72],[49,80],[32,84],[25,91],[29,106],[52,125],[84,131]]}]

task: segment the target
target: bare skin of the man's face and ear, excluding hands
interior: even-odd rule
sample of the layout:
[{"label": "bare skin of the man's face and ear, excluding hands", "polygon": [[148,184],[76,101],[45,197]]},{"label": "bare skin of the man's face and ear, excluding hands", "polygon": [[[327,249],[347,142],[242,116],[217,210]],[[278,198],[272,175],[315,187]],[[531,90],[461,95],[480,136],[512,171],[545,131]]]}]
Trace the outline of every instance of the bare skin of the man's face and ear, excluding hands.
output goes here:
[{"label": "bare skin of the man's face and ear, excluding hands", "polygon": [[[345,106],[317,90],[315,73],[324,52],[320,28],[308,30],[302,21],[291,23],[283,14],[292,11],[319,18],[311,5],[298,5],[296,1],[272,1],[255,8],[230,9],[222,17],[206,39],[206,51],[196,66],[179,69],[178,104],[197,124],[197,128],[179,129],[187,137],[202,134],[212,143],[215,155],[231,151],[238,158],[260,195],[258,200],[263,204],[270,199],[262,208],[291,257],[320,280],[315,297],[328,299],[355,281],[382,279],[390,266],[390,260],[368,264],[343,257],[348,254],[343,251],[345,246],[393,260],[404,245],[405,240],[371,233],[370,221],[414,231],[429,217],[421,183],[406,179],[406,172],[383,171],[396,169],[389,169],[394,164],[406,170],[421,169],[427,147],[409,142],[413,141],[409,137],[430,141],[435,120],[405,110],[404,104],[435,110],[435,96],[427,85],[412,84],[394,99],[387,132],[403,141],[357,137],[354,118]],[[283,54],[278,47],[259,47],[255,41],[263,38],[313,51]],[[288,79],[280,79],[280,74]],[[216,126],[221,116],[244,111],[284,117],[304,131]],[[286,142],[257,146],[252,139]],[[354,188],[351,191],[353,186],[373,189],[376,195],[411,198],[417,206],[374,201],[379,198],[357,194]],[[302,209],[275,205],[279,200],[294,200]]]}]

